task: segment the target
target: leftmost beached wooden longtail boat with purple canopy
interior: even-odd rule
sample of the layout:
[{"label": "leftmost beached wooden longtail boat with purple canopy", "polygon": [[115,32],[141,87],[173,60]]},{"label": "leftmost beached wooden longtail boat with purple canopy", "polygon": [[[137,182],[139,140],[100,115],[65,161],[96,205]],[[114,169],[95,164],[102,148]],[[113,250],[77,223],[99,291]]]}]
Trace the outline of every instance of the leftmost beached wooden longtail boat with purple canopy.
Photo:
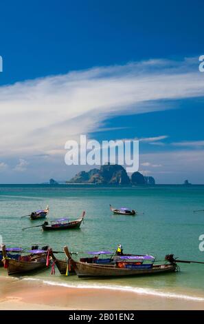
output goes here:
[{"label": "leftmost beached wooden longtail boat with purple canopy", "polygon": [[20,256],[19,260],[8,258],[5,250],[5,245],[2,245],[3,265],[7,269],[8,275],[23,274],[34,270],[40,270],[49,265],[49,249],[45,250],[30,250],[30,254]]}]

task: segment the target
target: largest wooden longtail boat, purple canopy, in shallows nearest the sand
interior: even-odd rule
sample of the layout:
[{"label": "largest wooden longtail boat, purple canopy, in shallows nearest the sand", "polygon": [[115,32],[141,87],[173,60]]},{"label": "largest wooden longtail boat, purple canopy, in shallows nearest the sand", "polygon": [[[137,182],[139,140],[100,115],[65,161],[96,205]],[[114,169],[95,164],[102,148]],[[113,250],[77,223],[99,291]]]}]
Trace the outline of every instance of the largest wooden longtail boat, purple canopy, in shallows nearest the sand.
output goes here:
[{"label": "largest wooden longtail boat, purple canopy, in shallows nearest the sand", "polygon": [[[74,261],[69,254],[67,246],[64,247],[64,251],[79,277],[138,276],[174,272],[177,269],[177,263],[154,265],[152,256],[146,256],[146,258],[143,256],[142,259],[139,259],[139,256],[137,258],[136,256],[120,256],[121,260],[114,265],[98,265],[95,263]],[[144,259],[146,261],[152,261],[152,263],[143,265],[141,260]]]}]

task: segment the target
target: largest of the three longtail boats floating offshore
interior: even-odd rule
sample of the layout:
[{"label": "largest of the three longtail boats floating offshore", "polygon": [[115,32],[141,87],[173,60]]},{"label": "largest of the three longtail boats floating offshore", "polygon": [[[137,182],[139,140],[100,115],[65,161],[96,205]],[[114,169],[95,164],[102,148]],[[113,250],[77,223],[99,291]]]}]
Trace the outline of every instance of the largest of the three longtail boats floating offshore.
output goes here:
[{"label": "largest of the three longtail boats floating offshore", "polygon": [[50,223],[45,221],[42,225],[25,227],[23,228],[23,230],[32,227],[42,227],[43,231],[72,230],[80,227],[82,221],[84,220],[84,215],[85,212],[82,212],[82,216],[79,219],[76,219],[76,221],[69,221],[69,219],[56,219],[54,221],[51,221]]}]

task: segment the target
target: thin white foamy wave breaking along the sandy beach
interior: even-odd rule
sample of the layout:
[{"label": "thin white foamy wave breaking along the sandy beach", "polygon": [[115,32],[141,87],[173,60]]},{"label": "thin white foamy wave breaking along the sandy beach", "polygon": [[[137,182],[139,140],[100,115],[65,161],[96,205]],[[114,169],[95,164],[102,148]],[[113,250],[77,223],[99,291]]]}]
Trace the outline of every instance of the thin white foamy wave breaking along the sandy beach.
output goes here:
[{"label": "thin white foamy wave breaking along the sandy beach", "polygon": [[152,290],[148,288],[141,288],[141,287],[131,287],[131,286],[120,286],[120,285],[98,285],[98,284],[70,284],[70,283],[57,283],[56,281],[48,281],[43,279],[34,279],[34,278],[23,278],[22,280],[25,281],[41,281],[45,285],[54,285],[60,287],[67,287],[67,288],[78,288],[78,289],[103,289],[103,290],[115,290],[115,291],[122,291],[122,292],[133,292],[135,294],[143,294],[149,296],[158,296],[158,297],[165,297],[165,298],[178,298],[178,299],[185,299],[186,301],[204,301],[203,297],[199,296],[189,296],[185,294],[176,294],[172,292],[162,292],[157,290]]}]

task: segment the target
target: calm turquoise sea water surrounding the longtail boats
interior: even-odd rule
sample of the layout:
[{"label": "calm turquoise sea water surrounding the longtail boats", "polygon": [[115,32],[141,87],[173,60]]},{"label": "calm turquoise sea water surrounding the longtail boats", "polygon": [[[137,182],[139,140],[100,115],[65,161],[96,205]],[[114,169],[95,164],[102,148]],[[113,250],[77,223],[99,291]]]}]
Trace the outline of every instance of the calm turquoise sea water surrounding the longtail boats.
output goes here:
[{"label": "calm turquoise sea water surrounding the longtail boats", "polygon": [[[114,207],[131,207],[138,216],[113,215]],[[204,234],[204,186],[155,185],[153,187],[104,188],[95,185],[1,185],[0,234],[10,246],[30,247],[34,243],[49,244],[54,250],[83,252],[86,250],[115,250],[122,243],[124,252],[152,254],[163,260],[169,253],[180,259],[204,261],[199,250],[199,236]],[[21,216],[49,205],[48,219],[68,216],[77,219],[86,211],[80,230],[42,232],[41,227],[22,231],[23,227],[42,221],[21,219]],[[60,254],[58,254],[60,256]],[[63,254],[62,254],[63,256]],[[166,292],[204,298],[204,265],[180,264],[181,272],[122,279],[78,279],[60,276],[50,270],[27,276],[62,285],[102,285],[141,292]],[[0,269],[0,275],[6,272]]]}]

